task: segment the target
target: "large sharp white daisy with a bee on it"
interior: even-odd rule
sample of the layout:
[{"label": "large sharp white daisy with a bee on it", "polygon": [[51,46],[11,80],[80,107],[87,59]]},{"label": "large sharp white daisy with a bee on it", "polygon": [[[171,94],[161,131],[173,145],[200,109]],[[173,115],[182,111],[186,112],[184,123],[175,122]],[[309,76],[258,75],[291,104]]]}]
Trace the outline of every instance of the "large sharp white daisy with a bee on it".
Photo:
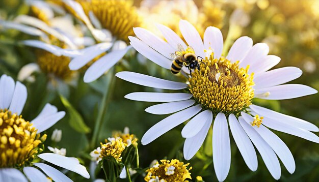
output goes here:
[{"label": "large sharp white daisy with a bee on it", "polygon": [[[280,61],[268,55],[264,43],[253,45],[249,37],[237,39],[227,56],[222,56],[223,37],[216,27],[207,27],[204,41],[188,21],[179,22],[182,41],[170,28],[158,24],[166,41],[143,28],[135,28],[138,38],[129,37],[130,44],[152,62],[171,69],[170,53],[178,44],[184,49],[192,46],[195,54],[203,57],[200,69],[193,70],[188,82],[175,82],[134,72],[120,72],[116,76],[126,81],[153,88],[180,90],[178,93],[131,93],[125,98],[144,102],[165,102],[145,109],[152,114],[170,114],[150,128],[141,142],[146,145],[174,127],[190,120],[181,134],[186,138],[184,158],[190,160],[201,147],[212,122],[212,150],[214,168],[219,181],[226,179],[230,168],[229,130],[247,166],[257,170],[259,151],[265,165],[275,179],[281,176],[280,163],[290,173],[295,171],[295,161],[285,143],[270,129],[319,143],[312,132],[319,129],[305,120],[281,114],[252,104],[253,98],[268,100],[292,99],[317,93],[309,86],[283,84],[301,76],[295,67],[268,71]],[[188,48],[191,51],[192,49]],[[193,52],[194,53],[194,52]],[[277,155],[277,156],[276,156]]]}]

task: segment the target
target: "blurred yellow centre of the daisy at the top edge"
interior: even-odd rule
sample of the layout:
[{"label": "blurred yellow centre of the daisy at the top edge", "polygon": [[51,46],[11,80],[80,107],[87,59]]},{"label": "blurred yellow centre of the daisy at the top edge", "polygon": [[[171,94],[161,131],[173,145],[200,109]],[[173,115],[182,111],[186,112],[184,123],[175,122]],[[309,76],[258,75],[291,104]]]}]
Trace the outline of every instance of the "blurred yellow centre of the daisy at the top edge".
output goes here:
[{"label": "blurred yellow centre of the daisy at the top edge", "polygon": [[85,13],[92,11],[102,27],[111,31],[119,40],[128,42],[128,36],[134,36],[133,27],[140,26],[140,18],[132,1],[92,0],[78,1]]}]

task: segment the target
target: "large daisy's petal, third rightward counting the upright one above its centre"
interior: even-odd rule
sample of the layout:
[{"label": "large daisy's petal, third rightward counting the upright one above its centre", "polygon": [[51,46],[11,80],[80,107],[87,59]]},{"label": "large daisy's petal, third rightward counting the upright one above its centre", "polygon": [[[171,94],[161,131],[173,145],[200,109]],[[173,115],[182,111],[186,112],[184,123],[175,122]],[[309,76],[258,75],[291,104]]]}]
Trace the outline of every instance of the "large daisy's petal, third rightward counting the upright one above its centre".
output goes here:
[{"label": "large daisy's petal, third rightward counting the upright one above its centre", "polygon": [[265,43],[255,44],[240,62],[240,66],[246,68],[247,65],[259,63],[263,57],[269,53],[269,47]]}]

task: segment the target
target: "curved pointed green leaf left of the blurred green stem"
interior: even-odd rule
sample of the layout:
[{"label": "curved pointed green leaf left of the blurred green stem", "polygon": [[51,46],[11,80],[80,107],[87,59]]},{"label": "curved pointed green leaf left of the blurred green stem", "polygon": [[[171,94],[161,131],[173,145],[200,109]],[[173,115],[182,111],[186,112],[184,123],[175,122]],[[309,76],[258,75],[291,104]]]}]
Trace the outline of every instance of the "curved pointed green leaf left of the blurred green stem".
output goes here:
[{"label": "curved pointed green leaf left of the blurred green stem", "polygon": [[82,116],[74,109],[74,107],[70,104],[70,102],[60,95],[61,102],[68,110],[69,114],[69,124],[70,126],[79,133],[89,133],[90,128],[86,126]]}]

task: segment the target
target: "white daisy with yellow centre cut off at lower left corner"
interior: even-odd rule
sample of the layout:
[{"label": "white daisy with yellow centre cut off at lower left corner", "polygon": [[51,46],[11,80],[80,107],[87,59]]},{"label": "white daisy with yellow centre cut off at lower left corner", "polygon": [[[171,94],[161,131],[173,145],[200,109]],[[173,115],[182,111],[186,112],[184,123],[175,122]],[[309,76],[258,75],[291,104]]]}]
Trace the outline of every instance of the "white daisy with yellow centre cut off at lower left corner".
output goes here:
[{"label": "white daisy with yellow centre cut off at lower left corner", "polygon": [[46,138],[45,134],[41,136],[40,133],[62,119],[65,112],[58,112],[55,106],[46,104],[36,118],[26,122],[20,114],[27,95],[22,83],[15,83],[7,75],[1,76],[0,181],[28,181],[26,177],[30,181],[46,181],[46,176],[55,181],[71,181],[65,174],[47,164],[33,163],[37,158],[89,178],[86,168],[76,158],[51,153],[39,154],[43,150],[40,145]]}]

